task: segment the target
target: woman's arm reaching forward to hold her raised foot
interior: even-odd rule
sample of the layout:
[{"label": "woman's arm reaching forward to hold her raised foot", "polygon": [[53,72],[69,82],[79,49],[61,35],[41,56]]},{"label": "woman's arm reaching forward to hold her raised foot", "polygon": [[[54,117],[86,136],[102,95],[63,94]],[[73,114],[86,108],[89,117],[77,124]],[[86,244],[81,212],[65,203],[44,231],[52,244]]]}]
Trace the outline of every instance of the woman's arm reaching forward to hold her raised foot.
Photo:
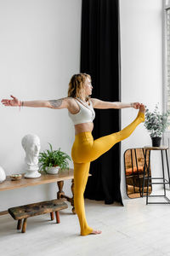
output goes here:
[{"label": "woman's arm reaching forward to hold her raised foot", "polygon": [[91,101],[93,102],[94,108],[99,109],[108,109],[108,108],[140,108],[139,102],[131,102],[131,103],[122,103],[122,102],[104,102],[100,101],[99,99],[91,98]]}]

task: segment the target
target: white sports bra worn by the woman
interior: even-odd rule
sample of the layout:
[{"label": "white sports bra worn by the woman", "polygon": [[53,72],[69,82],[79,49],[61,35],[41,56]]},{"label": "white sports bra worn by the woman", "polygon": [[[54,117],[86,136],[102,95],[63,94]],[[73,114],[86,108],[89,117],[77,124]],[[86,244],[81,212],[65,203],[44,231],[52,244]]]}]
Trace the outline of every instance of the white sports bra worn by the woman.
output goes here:
[{"label": "white sports bra worn by the woman", "polygon": [[[71,118],[72,122],[74,125],[78,125],[78,124],[83,124],[83,123],[92,123],[94,118],[95,118],[95,112],[94,112],[94,107],[93,107],[93,103],[89,100],[90,105],[88,105],[88,103],[86,102],[82,102],[81,99],[76,99],[74,98],[79,107],[80,110],[78,113],[71,113],[68,112],[69,117]],[[85,104],[87,104],[85,106]]]}]

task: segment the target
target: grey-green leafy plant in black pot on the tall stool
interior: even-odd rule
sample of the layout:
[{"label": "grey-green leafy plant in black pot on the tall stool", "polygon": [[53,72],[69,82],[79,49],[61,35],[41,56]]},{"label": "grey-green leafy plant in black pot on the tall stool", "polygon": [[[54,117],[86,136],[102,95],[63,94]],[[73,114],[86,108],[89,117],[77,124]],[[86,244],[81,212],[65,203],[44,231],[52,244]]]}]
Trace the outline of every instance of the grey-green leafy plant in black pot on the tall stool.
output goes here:
[{"label": "grey-green leafy plant in black pot on the tall stool", "polygon": [[169,111],[161,114],[157,104],[153,112],[146,108],[144,126],[150,133],[153,147],[160,147],[162,133],[170,125],[168,115]]}]

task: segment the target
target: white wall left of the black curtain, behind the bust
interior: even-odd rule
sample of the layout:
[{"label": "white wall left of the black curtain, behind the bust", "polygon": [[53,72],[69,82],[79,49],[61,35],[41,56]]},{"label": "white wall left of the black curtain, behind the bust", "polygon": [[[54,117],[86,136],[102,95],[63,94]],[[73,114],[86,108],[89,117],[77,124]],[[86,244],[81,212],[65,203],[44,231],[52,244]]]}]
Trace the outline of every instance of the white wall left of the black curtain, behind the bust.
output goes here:
[{"label": "white wall left of the black curtain, behind the bust", "polygon": [[[73,73],[79,72],[80,0],[0,1],[1,99],[20,100],[67,96]],[[74,131],[67,111],[47,108],[0,108],[0,166],[6,174],[24,172],[20,141],[27,133],[41,139],[42,150],[52,143],[71,155]],[[71,164],[72,166],[72,164]],[[71,182],[65,192],[71,195]],[[52,199],[56,184],[0,193],[0,211],[8,207]]]}]

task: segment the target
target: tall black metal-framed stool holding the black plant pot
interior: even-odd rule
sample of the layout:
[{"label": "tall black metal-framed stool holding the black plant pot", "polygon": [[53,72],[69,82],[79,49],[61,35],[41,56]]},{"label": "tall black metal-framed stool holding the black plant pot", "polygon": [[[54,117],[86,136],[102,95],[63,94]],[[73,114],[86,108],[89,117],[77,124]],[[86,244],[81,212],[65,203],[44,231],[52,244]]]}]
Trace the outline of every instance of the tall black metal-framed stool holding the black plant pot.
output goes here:
[{"label": "tall black metal-framed stool holding the black plant pot", "polygon": [[[170,188],[170,176],[169,176],[169,165],[168,165],[168,159],[167,159],[167,149],[168,147],[166,146],[161,146],[161,147],[144,147],[144,179],[147,179],[147,192],[146,192],[146,205],[148,204],[170,204],[170,199],[167,198],[166,195],[166,184],[169,184],[169,188]],[[160,150],[161,151],[161,166],[162,166],[162,177],[151,177],[150,175],[150,151],[151,150]],[[165,154],[166,157],[166,163],[167,163],[167,176],[168,176],[168,180],[165,178],[165,169],[164,169],[164,160],[163,160],[163,153]],[[147,166],[146,164],[146,156],[147,154],[149,154],[149,164]],[[152,170],[153,173],[153,170]],[[144,197],[144,179],[143,179],[143,187],[142,187],[142,195]],[[161,182],[152,182],[152,180],[162,180]],[[149,195],[149,185],[152,184],[162,184],[163,185],[163,191],[164,191],[164,195]],[[149,197],[164,197],[167,201],[165,202],[161,202],[161,201],[157,201],[157,202],[149,202],[148,198]]]}]

